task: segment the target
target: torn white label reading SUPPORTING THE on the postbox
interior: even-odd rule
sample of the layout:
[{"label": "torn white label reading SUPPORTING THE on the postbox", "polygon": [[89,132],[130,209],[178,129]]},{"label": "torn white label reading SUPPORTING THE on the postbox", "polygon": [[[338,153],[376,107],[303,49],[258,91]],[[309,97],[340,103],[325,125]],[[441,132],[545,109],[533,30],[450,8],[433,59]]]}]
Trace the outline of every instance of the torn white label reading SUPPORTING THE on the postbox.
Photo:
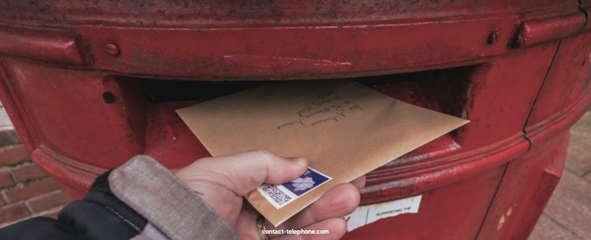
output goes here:
[{"label": "torn white label reading SUPPORTING THE on the postbox", "polygon": [[358,207],[353,213],[344,217],[347,220],[347,232],[382,218],[390,218],[403,213],[418,213],[422,196]]}]

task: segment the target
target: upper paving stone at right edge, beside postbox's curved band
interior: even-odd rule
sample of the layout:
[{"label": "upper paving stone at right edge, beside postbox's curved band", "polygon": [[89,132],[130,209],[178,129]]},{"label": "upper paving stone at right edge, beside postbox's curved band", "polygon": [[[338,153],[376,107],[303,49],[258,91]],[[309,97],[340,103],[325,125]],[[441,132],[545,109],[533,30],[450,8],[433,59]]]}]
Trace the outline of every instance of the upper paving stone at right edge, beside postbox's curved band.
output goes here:
[{"label": "upper paving stone at right edge, beside postbox's curved band", "polygon": [[578,177],[584,177],[591,171],[591,136],[571,133],[569,149],[566,151],[566,163],[564,168],[576,174]]}]

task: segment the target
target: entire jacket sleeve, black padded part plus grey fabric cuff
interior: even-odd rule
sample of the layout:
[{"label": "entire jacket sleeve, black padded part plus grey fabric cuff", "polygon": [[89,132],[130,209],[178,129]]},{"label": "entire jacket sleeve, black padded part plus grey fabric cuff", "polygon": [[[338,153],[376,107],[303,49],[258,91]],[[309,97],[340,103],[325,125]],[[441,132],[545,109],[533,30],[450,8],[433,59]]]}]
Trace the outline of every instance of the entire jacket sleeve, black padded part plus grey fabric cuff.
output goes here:
[{"label": "entire jacket sleeve, black padded part plus grey fabric cuff", "polygon": [[0,239],[238,239],[193,190],[150,156],[97,178],[57,220],[37,217],[0,228]]}]

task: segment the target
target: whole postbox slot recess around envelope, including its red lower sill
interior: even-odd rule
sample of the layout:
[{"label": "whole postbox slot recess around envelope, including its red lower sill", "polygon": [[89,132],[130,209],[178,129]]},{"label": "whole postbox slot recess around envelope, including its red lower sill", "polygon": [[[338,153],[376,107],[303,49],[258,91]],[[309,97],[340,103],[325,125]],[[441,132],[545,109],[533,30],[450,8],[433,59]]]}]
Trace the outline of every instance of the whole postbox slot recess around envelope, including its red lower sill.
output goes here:
[{"label": "whole postbox slot recess around envelope, including its red lower sill", "polygon": [[[478,65],[463,66],[356,77],[355,80],[398,100],[462,117],[465,114],[466,91],[471,84],[471,75],[477,68]],[[122,107],[130,112],[127,121],[134,129],[137,142],[143,144],[143,152],[156,157],[165,156],[161,162],[171,169],[209,156],[174,110],[270,82],[161,80],[123,76],[111,76],[109,79],[118,85],[118,93],[113,93],[118,95],[116,99],[125,102]],[[145,132],[138,133],[137,129],[145,129]],[[396,167],[425,160],[426,156],[432,158],[438,153],[450,153],[459,149],[454,140],[457,135],[457,131],[444,135],[384,167]]]}]

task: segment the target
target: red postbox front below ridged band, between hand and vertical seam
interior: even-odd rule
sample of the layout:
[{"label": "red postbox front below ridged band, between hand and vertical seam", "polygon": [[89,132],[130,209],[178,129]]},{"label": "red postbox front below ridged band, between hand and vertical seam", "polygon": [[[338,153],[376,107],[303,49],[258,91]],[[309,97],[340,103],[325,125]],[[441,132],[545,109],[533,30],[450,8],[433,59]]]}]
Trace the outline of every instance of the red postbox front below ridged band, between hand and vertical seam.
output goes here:
[{"label": "red postbox front below ridged band, between hand and vertical seam", "polygon": [[470,181],[422,191],[418,214],[378,220],[343,239],[476,239],[504,168],[498,165]]}]

